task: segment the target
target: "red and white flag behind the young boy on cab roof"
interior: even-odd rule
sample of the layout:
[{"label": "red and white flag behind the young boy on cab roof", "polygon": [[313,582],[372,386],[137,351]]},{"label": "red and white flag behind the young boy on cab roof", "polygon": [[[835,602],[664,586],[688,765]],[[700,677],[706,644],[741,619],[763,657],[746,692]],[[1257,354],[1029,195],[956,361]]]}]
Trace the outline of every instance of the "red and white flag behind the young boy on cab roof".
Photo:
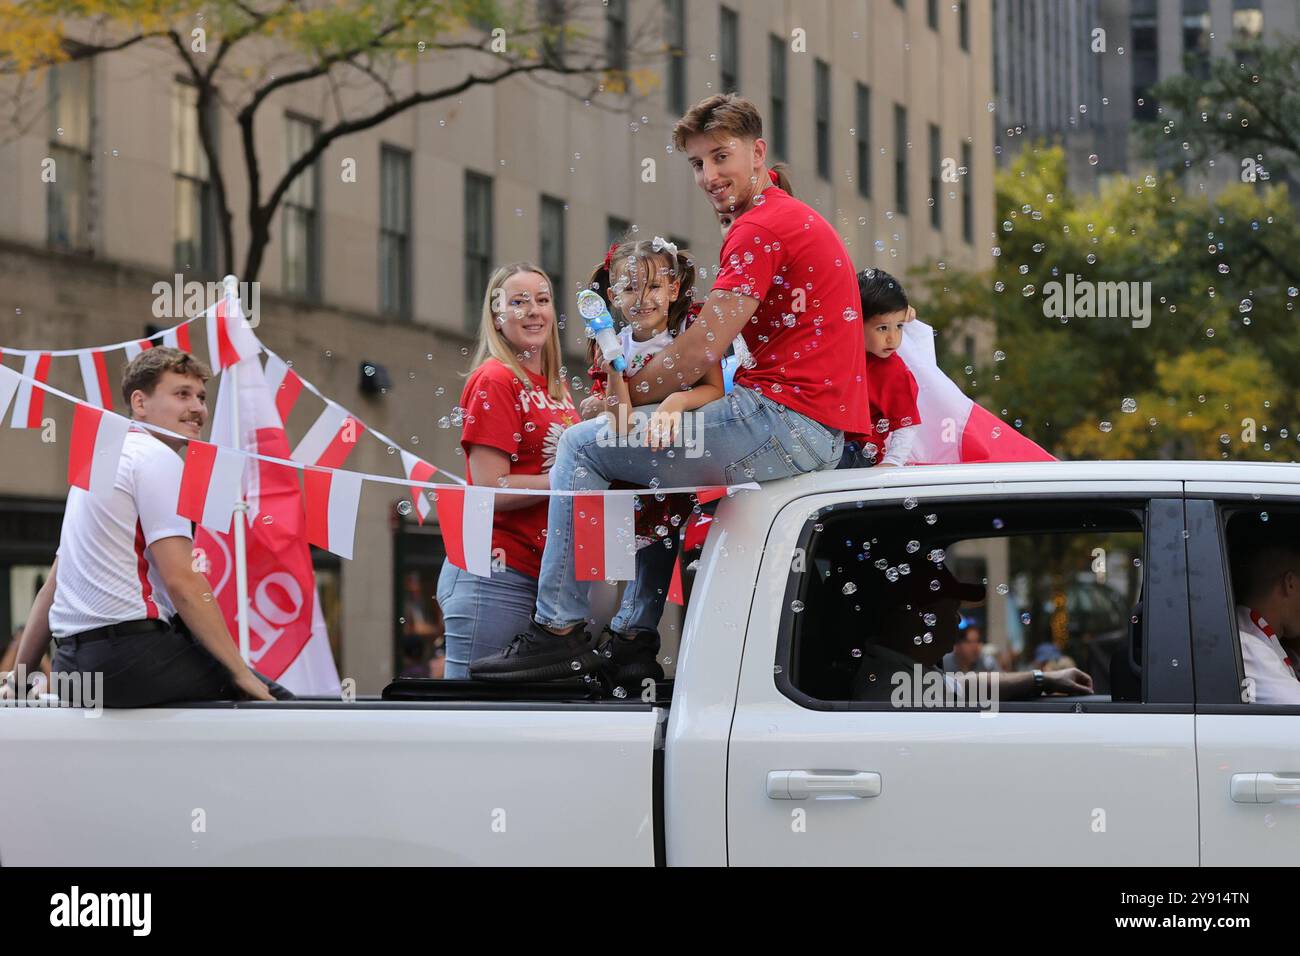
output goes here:
[{"label": "red and white flag behind the young boy on cab roof", "polygon": [[935,330],[919,319],[904,323],[898,355],[916,378],[920,424],[913,455],[918,464],[958,462],[1054,462],[1044,449],[975,405],[944,375],[935,358]]}]

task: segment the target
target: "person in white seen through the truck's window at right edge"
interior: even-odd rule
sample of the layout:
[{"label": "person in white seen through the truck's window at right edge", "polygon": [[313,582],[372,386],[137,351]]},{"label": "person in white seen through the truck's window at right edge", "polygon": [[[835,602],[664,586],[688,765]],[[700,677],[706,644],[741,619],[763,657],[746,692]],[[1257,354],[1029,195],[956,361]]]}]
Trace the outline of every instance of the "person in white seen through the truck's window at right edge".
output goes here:
[{"label": "person in white seen through the truck's window at right edge", "polygon": [[[1244,704],[1300,704],[1300,527],[1239,515],[1230,525],[1236,628],[1242,636]],[[1270,527],[1271,525],[1271,527]]]}]

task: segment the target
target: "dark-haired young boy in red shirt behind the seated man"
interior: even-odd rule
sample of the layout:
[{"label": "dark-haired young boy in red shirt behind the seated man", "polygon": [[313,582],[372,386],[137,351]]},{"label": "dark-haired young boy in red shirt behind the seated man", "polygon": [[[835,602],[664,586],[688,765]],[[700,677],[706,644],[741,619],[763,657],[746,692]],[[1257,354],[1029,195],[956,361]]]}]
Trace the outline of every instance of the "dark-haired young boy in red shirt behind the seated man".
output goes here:
[{"label": "dark-haired young boy in red shirt behind the seated man", "polygon": [[867,402],[875,428],[868,434],[844,436],[840,467],[907,464],[919,433],[920,412],[916,378],[898,355],[898,346],[904,323],[915,313],[907,304],[902,282],[884,269],[859,272],[858,294],[867,342]]}]

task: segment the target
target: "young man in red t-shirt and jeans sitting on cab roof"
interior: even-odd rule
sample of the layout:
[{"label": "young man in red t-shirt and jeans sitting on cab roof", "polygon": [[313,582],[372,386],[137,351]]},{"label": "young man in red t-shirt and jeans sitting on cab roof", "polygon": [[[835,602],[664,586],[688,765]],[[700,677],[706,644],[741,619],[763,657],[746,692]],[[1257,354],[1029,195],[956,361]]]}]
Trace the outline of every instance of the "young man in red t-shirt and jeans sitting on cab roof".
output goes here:
[{"label": "young man in red t-shirt and jeans sitting on cab roof", "polygon": [[[696,454],[610,441],[602,416],[564,432],[552,489],[771,481],[836,467],[844,432],[871,427],[853,263],[835,228],[776,186],[758,109],[734,94],[710,96],[677,122],[673,143],[732,225],[699,319],[629,380],[630,394],[651,403],[693,386],[738,334],[751,362],[729,395],[696,412]],[[472,661],[472,678],[573,676],[594,671],[601,657],[615,674],[633,672],[654,661],[653,632],[616,635],[599,654],[593,648],[588,585],[575,578],[572,509],[572,498],[551,498],[532,626],[502,654]]]}]

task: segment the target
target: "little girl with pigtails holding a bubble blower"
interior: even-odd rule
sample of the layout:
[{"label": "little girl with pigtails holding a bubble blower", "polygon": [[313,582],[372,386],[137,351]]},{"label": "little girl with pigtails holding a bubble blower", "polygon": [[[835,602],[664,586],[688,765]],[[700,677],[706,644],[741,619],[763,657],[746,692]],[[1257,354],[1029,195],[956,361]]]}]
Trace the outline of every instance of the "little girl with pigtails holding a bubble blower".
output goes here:
[{"label": "little girl with pigtails holding a bubble blower", "polygon": [[[628,393],[627,377],[636,375],[658,351],[667,346],[698,315],[693,304],[696,267],[685,250],[655,237],[623,241],[610,246],[604,261],[592,274],[590,289],[610,303],[610,312],[624,323],[619,341],[628,367],[612,372],[598,356],[595,342],[592,355],[592,395],[582,402],[582,418],[598,414],[610,416],[610,429],[619,441],[646,441],[663,449],[682,436],[681,416],[723,397],[722,365],[712,365],[703,378],[688,390],[675,392],[659,403],[645,434],[627,434],[634,405]],[[689,494],[670,494],[663,501],[638,502],[637,511],[637,576],[623,594],[623,604],[610,626],[608,640],[598,653],[610,663],[611,679],[629,693],[640,691],[645,679],[663,680],[659,653],[659,618],[667,597],[673,562],[677,558],[677,536],[692,511]]]}]

